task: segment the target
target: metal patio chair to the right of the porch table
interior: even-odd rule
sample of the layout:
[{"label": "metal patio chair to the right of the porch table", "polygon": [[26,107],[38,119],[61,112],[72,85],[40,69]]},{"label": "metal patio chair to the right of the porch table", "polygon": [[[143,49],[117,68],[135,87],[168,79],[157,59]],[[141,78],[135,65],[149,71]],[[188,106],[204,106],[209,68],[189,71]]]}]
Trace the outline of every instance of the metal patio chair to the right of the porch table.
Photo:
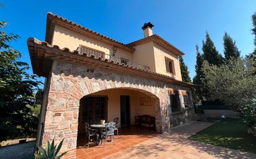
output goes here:
[{"label": "metal patio chair to the right of the porch table", "polygon": [[106,148],[106,142],[107,142],[107,137],[110,136],[110,139],[114,141],[114,144],[116,145],[116,142],[114,140],[114,129],[115,129],[115,122],[109,122],[106,124],[105,129],[103,130],[101,134],[101,140],[104,139],[105,145],[104,148]]}]

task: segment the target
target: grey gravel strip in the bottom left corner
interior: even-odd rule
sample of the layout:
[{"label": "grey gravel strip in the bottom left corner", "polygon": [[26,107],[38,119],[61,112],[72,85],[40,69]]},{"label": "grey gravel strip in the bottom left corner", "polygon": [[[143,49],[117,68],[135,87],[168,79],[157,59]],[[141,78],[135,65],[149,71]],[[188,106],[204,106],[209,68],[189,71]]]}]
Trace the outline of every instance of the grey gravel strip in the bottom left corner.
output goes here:
[{"label": "grey gravel strip in the bottom left corner", "polygon": [[1,159],[32,159],[35,142],[0,148]]}]

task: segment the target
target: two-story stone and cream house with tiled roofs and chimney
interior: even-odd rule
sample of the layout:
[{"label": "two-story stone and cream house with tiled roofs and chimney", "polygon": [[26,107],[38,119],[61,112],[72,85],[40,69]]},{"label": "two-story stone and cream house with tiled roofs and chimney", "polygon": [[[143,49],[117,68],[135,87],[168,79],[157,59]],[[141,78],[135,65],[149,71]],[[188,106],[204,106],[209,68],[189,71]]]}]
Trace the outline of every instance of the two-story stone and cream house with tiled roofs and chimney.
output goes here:
[{"label": "two-story stone and cream house with tiled roofs and chimney", "polygon": [[65,138],[63,150],[77,146],[84,122],[135,116],[155,117],[155,130],[193,120],[193,85],[181,80],[179,49],[144,24],[144,38],[124,44],[47,14],[45,41],[29,38],[34,74],[45,77],[37,142]]}]

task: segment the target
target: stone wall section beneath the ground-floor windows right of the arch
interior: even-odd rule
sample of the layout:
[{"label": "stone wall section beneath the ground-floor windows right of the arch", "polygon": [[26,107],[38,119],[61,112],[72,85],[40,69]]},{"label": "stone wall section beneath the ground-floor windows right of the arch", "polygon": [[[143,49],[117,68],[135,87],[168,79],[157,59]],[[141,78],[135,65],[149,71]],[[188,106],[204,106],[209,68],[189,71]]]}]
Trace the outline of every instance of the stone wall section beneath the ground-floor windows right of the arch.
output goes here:
[{"label": "stone wall section beneath the ground-floor windows right of the arch", "polygon": [[179,126],[194,120],[194,108],[185,108],[183,111],[183,113],[179,112],[171,114],[171,127]]}]

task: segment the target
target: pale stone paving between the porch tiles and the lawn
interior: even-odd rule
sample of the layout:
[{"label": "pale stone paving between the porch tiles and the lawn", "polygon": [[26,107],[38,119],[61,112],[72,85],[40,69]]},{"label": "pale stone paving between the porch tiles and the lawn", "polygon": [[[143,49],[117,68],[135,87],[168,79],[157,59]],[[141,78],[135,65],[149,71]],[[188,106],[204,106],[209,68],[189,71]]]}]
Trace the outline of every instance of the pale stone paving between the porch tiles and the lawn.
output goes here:
[{"label": "pale stone paving between the porch tiles and the lawn", "polygon": [[168,134],[157,135],[157,137],[153,137],[105,158],[256,158],[256,154],[253,153],[231,150],[229,148],[217,147],[187,139],[190,135],[211,126],[211,124],[213,123],[192,122],[188,125],[172,129]]}]

